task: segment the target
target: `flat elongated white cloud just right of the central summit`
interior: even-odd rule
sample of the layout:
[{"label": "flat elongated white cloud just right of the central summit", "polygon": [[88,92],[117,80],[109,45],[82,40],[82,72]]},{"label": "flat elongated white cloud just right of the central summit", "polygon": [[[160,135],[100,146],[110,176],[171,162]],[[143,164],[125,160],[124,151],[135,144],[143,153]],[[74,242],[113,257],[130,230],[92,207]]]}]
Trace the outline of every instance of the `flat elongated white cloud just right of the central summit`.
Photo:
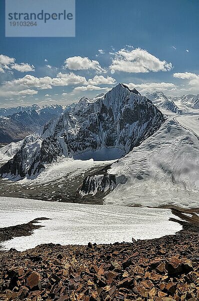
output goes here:
[{"label": "flat elongated white cloud just right of the central summit", "polygon": [[165,91],[165,90],[170,90],[173,88],[176,88],[176,86],[172,83],[141,83],[141,84],[133,84],[133,83],[129,83],[127,84],[127,86],[129,87],[129,89],[133,89],[135,88],[136,90],[145,93],[145,92],[150,92],[150,91],[157,91],[157,90],[161,90],[161,91]]}]

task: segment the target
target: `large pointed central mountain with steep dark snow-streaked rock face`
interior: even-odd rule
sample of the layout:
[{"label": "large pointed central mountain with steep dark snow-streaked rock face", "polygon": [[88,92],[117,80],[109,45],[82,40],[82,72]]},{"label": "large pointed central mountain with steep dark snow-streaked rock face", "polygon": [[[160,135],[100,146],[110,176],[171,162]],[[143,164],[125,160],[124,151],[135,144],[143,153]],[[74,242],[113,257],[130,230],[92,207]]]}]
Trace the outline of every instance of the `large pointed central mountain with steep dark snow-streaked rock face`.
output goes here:
[{"label": "large pointed central mountain with steep dark snow-streaked rock face", "polygon": [[161,112],[135,89],[118,84],[102,98],[81,99],[31,135],[0,169],[1,177],[35,177],[44,164],[88,150],[119,148],[127,154],[164,121]]}]

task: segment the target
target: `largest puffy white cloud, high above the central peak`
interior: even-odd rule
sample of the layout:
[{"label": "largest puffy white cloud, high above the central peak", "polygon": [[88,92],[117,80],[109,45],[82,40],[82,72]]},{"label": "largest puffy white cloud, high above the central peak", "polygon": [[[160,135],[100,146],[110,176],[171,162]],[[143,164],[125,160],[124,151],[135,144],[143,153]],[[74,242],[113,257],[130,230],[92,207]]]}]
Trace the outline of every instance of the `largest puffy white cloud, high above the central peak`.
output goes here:
[{"label": "largest puffy white cloud, high above the central peak", "polygon": [[136,48],[131,51],[120,49],[115,52],[109,68],[111,73],[114,73],[114,71],[145,73],[149,71],[169,71],[172,65],[166,61],[160,61],[146,50]]}]

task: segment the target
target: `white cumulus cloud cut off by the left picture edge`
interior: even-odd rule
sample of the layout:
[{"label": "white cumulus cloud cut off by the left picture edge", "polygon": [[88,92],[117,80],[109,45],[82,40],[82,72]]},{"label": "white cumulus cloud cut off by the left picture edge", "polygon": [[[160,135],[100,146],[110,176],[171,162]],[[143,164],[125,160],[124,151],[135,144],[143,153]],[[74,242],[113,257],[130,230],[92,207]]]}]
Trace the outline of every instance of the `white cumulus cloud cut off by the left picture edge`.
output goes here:
[{"label": "white cumulus cloud cut off by the left picture edge", "polygon": [[34,71],[34,66],[29,65],[27,63],[15,63],[14,58],[10,58],[6,55],[1,54],[0,55],[0,72],[4,73],[5,70],[15,69],[19,72],[29,72]]}]

